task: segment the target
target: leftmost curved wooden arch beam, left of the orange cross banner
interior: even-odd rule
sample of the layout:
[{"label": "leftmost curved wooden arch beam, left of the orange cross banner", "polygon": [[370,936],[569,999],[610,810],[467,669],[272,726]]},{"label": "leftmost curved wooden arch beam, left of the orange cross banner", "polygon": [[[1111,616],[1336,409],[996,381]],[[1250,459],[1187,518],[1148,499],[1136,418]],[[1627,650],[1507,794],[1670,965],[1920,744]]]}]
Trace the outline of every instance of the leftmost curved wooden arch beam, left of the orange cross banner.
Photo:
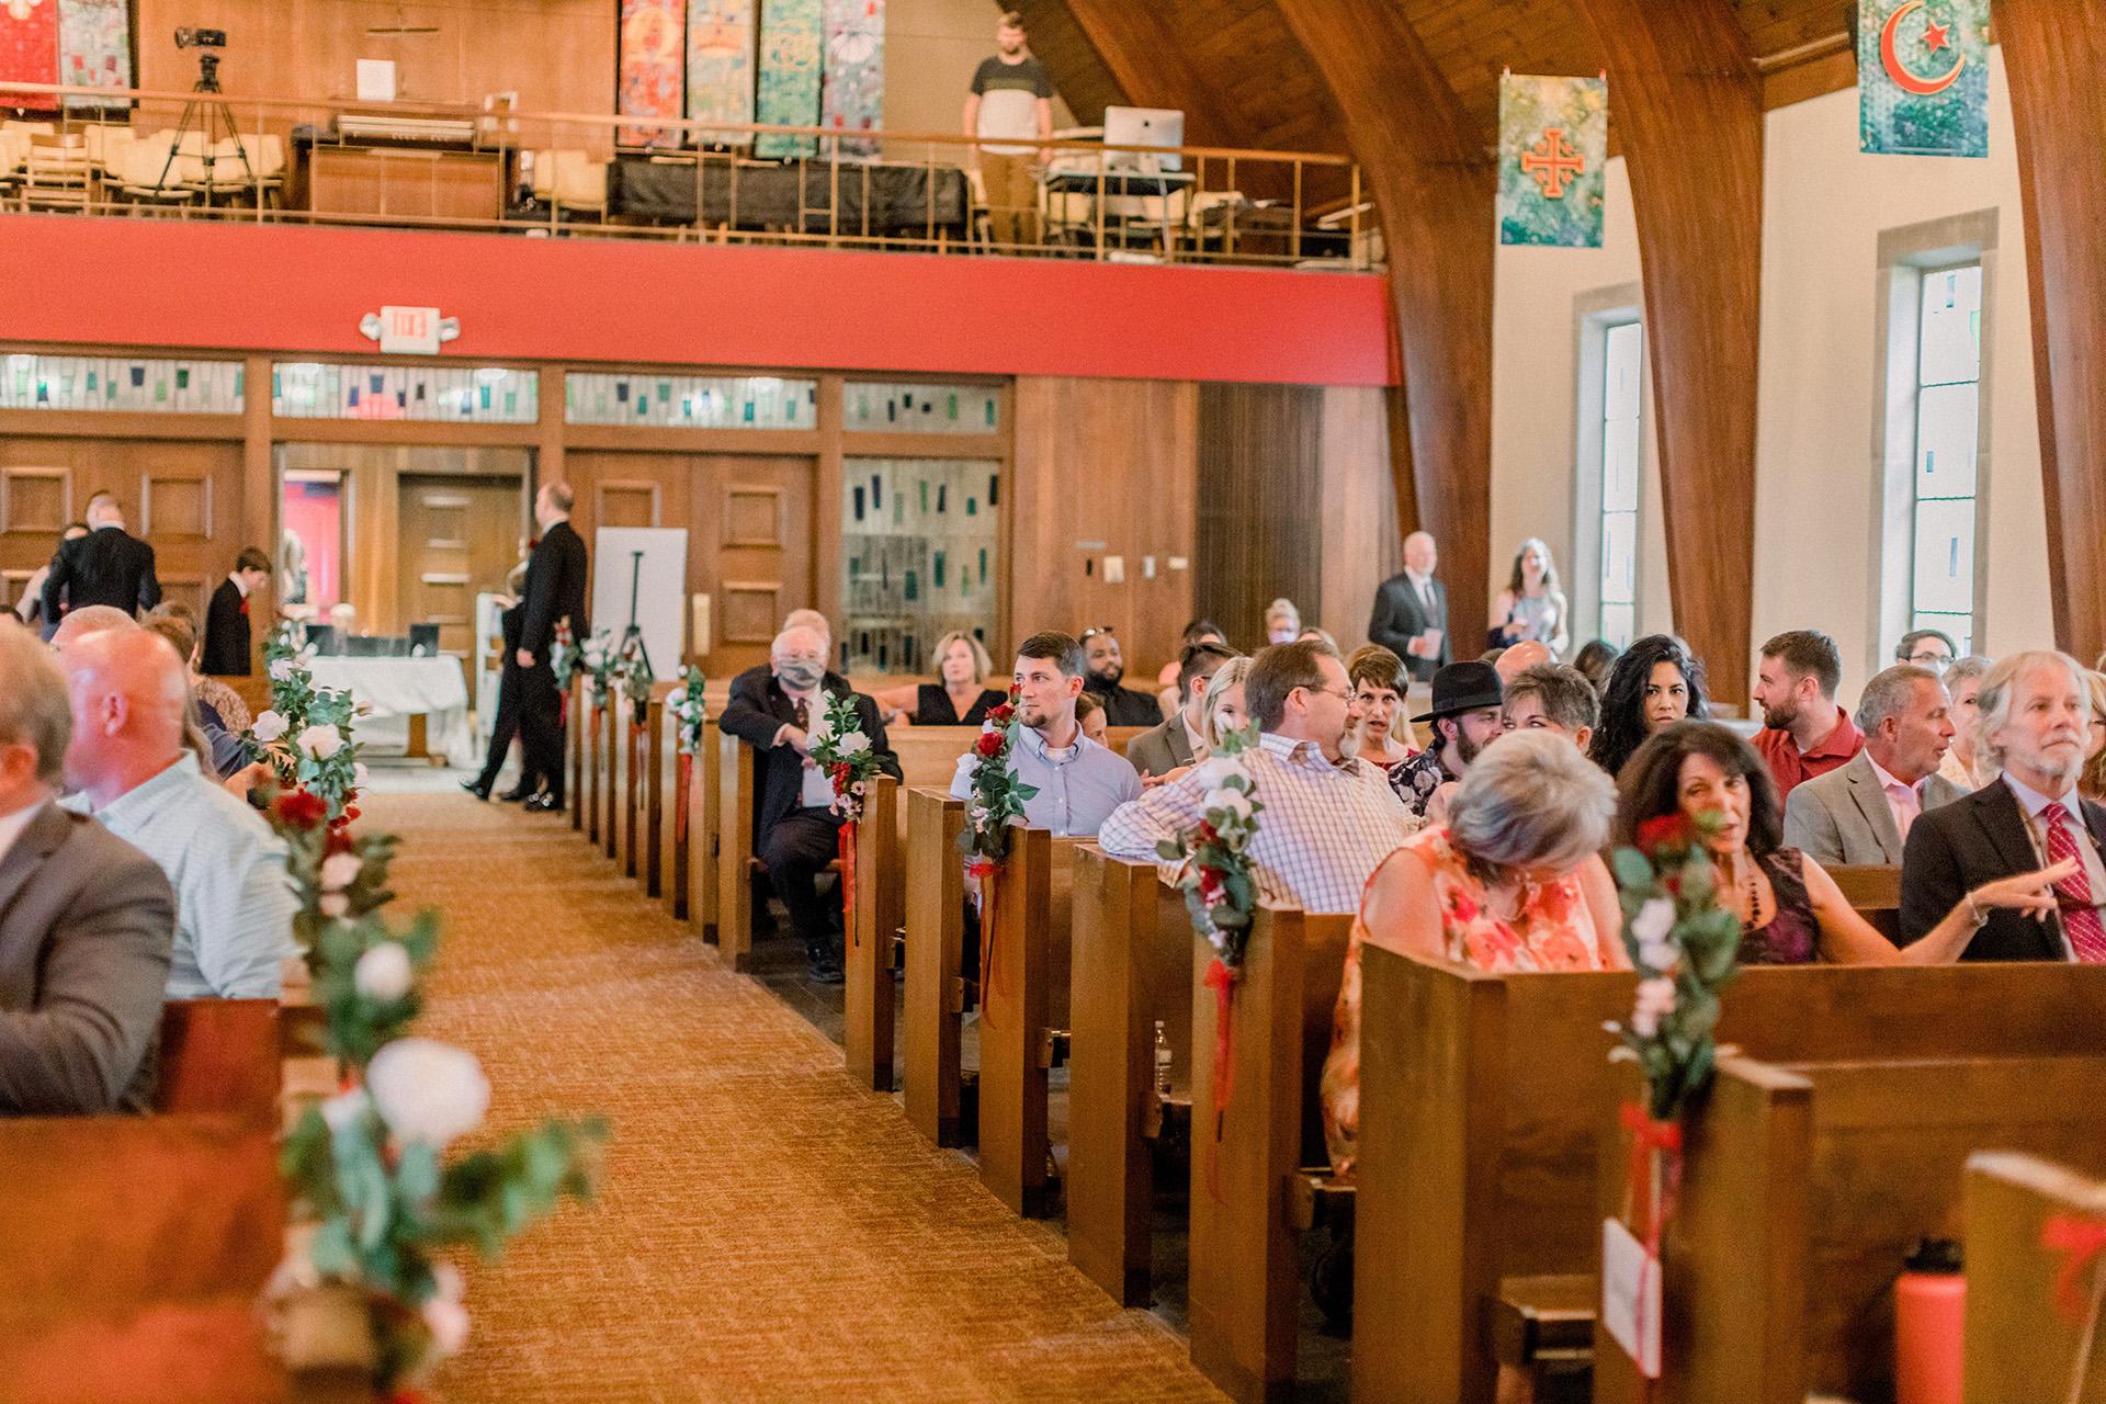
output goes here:
[{"label": "leftmost curved wooden arch beam, left of the orange cross banner", "polygon": [[1497,162],[1394,0],[1274,0],[1346,116],[1390,242],[1405,366],[1392,434],[1398,528],[1441,541],[1455,657],[1491,577],[1491,272]]}]

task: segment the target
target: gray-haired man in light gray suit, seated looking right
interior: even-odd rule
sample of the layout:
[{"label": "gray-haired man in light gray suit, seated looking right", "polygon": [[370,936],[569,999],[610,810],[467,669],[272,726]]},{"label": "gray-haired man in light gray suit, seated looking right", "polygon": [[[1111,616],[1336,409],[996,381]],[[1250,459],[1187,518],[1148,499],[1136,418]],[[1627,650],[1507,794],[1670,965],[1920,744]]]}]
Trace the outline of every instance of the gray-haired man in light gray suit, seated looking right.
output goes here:
[{"label": "gray-haired man in light gray suit, seated looking right", "polygon": [[1965,794],[1938,775],[1952,743],[1946,686],[1902,663],[1864,684],[1864,749],[1784,802],[1784,842],[1815,863],[1900,865],[1908,829],[1929,808]]}]

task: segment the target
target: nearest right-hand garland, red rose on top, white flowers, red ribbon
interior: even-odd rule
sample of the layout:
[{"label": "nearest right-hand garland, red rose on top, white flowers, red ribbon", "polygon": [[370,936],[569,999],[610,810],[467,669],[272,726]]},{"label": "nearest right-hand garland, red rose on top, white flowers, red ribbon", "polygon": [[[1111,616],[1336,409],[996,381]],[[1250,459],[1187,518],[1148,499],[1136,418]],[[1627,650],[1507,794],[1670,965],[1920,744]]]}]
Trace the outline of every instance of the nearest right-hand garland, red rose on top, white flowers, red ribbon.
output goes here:
[{"label": "nearest right-hand garland, red rose on top, white flowers, red ribbon", "polygon": [[[1636,846],[1611,855],[1638,996],[1628,1021],[1607,1025],[1620,1040],[1609,1057],[1645,1074],[1645,1105],[1626,1105],[1622,1122],[1630,1132],[1626,1219],[1643,1229],[1651,1263],[1681,1191],[1683,1116],[1718,1061],[1718,989],[1737,972],[1740,920],[1718,905],[1708,846],[1721,823],[1716,813],[1695,823],[1683,815],[1647,819]],[[1645,1353],[1641,1343],[1641,1362]]]}]

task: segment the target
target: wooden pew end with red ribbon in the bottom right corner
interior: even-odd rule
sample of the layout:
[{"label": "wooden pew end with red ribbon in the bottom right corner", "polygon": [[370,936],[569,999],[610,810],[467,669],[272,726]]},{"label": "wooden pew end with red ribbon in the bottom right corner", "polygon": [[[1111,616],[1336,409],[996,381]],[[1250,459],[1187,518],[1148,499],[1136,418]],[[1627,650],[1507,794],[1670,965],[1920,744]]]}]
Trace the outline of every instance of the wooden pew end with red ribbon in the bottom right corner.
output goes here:
[{"label": "wooden pew end with red ribbon in the bottom right corner", "polygon": [[[2106,1225],[2106,1181],[2013,1151],[1967,1160],[1967,1372],[1969,1404],[2068,1400],[2077,1358],[2091,1345],[2081,1404],[2106,1402],[2098,1341],[2083,1339],[2058,1301],[2066,1255],[2041,1244],[2051,1219]],[[2098,1282],[2102,1265],[2079,1276]],[[2089,1305],[2089,1295],[2083,1295]]]}]

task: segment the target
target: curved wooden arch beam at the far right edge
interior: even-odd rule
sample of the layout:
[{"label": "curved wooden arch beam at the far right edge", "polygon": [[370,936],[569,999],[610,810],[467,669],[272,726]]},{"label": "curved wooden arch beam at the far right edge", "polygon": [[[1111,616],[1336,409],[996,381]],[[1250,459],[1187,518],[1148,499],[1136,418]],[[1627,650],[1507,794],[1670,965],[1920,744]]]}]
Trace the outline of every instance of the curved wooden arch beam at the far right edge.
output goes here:
[{"label": "curved wooden arch beam at the far right edge", "polygon": [[2055,642],[2106,646],[2106,0],[1996,0],[2026,208]]}]

